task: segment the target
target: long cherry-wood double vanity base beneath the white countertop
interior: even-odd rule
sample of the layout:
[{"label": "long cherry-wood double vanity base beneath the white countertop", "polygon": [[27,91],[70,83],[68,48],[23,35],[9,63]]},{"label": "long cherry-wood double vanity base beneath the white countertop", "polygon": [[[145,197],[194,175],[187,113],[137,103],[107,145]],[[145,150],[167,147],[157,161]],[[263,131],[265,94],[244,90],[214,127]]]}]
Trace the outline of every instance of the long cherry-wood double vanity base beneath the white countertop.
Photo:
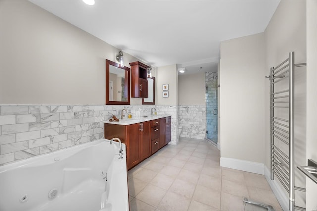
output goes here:
[{"label": "long cherry-wood double vanity base beneath the white countertop", "polygon": [[170,119],[169,116],[130,125],[105,123],[105,138],[118,137],[125,143],[130,170],[170,142]]}]

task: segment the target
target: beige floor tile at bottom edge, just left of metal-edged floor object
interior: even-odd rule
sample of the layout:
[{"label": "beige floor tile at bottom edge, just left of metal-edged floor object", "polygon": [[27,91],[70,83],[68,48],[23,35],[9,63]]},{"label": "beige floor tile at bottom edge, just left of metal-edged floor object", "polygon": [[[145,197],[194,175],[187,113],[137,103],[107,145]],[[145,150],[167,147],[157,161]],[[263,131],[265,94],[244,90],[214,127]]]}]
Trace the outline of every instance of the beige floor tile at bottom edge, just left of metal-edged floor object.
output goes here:
[{"label": "beige floor tile at bottom edge, just left of metal-edged floor object", "polygon": [[244,211],[243,198],[227,193],[222,193],[221,211]]}]

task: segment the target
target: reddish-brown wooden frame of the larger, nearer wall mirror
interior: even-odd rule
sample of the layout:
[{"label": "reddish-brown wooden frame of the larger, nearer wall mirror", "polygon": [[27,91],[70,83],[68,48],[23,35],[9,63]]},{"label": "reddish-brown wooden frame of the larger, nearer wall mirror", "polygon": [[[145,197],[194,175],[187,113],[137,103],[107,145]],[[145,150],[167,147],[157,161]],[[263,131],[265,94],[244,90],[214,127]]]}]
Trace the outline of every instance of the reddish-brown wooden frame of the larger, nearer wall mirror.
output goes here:
[{"label": "reddish-brown wooden frame of the larger, nearer wall mirror", "polygon": [[[128,101],[110,101],[109,86],[110,86],[110,65],[125,70],[124,75],[124,90],[128,92]],[[106,59],[106,105],[130,105],[130,68],[119,67],[116,62]]]}]

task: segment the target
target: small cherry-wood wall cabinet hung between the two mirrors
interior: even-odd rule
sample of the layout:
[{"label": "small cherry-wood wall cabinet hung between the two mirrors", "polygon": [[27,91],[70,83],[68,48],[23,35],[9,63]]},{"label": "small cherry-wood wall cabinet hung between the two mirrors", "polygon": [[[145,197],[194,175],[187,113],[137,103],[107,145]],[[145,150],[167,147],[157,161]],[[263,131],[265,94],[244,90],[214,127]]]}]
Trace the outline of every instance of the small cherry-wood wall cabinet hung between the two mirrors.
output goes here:
[{"label": "small cherry-wood wall cabinet hung between the two mirrors", "polygon": [[136,61],[130,63],[131,66],[131,97],[148,97],[148,68],[149,66]]}]

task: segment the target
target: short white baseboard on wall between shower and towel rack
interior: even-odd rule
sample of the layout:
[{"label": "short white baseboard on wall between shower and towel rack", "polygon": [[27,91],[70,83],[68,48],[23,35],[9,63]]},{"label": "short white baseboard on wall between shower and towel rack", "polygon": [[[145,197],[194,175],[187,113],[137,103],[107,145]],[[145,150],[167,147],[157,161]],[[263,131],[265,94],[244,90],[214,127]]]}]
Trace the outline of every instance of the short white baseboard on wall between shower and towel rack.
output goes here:
[{"label": "short white baseboard on wall between shower and towel rack", "polygon": [[259,162],[221,157],[220,166],[264,175],[264,164]]}]

